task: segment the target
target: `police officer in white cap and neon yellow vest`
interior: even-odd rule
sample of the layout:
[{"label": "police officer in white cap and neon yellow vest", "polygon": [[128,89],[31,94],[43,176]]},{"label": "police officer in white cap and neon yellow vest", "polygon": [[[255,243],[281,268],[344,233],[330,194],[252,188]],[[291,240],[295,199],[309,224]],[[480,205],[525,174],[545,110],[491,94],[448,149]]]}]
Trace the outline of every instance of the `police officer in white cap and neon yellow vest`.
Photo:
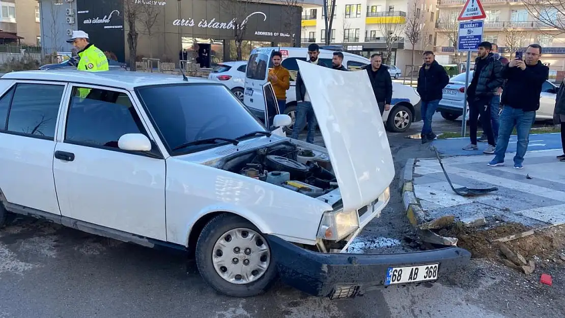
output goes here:
[{"label": "police officer in white cap and neon yellow vest", "polygon": [[67,42],[72,43],[79,51],[80,61],[79,66],[77,66],[79,71],[108,71],[106,55],[98,47],[88,42],[88,33],[73,31],[71,40],[67,40]]}]

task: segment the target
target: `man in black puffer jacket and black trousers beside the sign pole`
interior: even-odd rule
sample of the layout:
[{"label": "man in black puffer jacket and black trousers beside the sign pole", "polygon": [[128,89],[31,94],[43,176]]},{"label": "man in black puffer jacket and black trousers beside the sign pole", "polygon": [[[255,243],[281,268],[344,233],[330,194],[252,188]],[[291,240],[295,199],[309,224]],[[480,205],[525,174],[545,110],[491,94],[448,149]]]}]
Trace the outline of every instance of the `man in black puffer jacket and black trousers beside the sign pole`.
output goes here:
[{"label": "man in black puffer jacket and black trousers beside the sign pole", "polygon": [[477,58],[475,59],[475,71],[473,79],[467,88],[467,102],[469,104],[469,134],[471,143],[463,150],[477,150],[477,126],[479,125],[479,115],[481,116],[481,124],[486,134],[489,145],[483,151],[485,154],[494,154],[496,140],[490,123],[490,103],[493,95],[498,88],[502,86],[504,79],[502,78],[502,62],[496,59],[491,52],[492,44],[490,42],[481,42],[477,49]]}]

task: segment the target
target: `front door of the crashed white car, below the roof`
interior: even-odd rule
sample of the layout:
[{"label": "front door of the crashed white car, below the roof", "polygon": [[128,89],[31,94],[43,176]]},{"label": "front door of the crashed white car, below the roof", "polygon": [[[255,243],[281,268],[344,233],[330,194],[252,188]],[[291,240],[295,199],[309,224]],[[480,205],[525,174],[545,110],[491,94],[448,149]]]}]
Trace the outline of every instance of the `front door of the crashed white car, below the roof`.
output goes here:
[{"label": "front door of the crashed white car, below the roof", "polygon": [[[80,88],[91,89],[86,98]],[[61,214],[165,241],[163,156],[157,146],[149,153],[118,147],[127,133],[153,140],[129,92],[73,85],[67,99],[53,160]]]}]

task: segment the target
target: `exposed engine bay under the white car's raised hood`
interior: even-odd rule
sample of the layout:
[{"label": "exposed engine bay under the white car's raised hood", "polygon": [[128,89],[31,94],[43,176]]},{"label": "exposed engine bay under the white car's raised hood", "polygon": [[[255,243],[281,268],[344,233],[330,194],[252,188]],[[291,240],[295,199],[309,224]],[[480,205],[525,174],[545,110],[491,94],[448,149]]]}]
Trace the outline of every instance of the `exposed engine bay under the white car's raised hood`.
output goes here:
[{"label": "exposed engine bay under the white car's raised hood", "polygon": [[238,154],[226,160],[221,169],[314,198],[337,188],[327,154],[300,149],[289,142]]}]

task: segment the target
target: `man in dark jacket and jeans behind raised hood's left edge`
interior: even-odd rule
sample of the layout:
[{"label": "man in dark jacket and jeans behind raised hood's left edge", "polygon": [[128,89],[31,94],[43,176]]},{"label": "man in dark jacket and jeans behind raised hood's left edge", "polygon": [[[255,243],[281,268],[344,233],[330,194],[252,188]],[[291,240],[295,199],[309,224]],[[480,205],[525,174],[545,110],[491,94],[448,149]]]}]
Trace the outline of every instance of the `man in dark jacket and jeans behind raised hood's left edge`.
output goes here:
[{"label": "man in dark jacket and jeans behind raised hood's left edge", "polygon": [[[308,62],[328,67],[318,59],[319,54],[320,47],[318,44],[312,43],[311,45],[308,45],[308,57],[310,58]],[[296,77],[296,103],[296,119],[294,121],[294,127],[290,137],[298,139],[298,135],[302,132],[304,126],[308,124],[306,142],[314,143],[314,134],[316,133],[316,116],[314,115],[314,109],[310,102],[310,96],[308,96],[306,86],[304,86],[304,82],[300,76],[300,71],[298,71],[298,75]]]}]

